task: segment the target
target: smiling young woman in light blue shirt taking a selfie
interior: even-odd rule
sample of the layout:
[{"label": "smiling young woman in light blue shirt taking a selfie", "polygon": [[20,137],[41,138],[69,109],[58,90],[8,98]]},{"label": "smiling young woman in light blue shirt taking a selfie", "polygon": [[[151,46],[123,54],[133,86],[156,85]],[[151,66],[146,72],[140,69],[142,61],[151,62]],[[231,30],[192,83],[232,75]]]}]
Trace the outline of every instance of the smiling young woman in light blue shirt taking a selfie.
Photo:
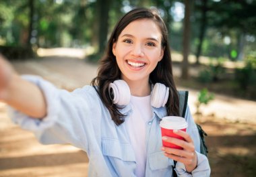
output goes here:
[{"label": "smiling young woman in light blue shirt taking a selfie", "polygon": [[[210,176],[189,109],[185,140],[163,137],[160,121],[179,115],[166,26],[154,9],[133,9],[113,30],[92,86],[69,93],[38,76],[18,76],[0,57],[0,100],[41,143],[88,154],[89,176]],[[177,164],[174,165],[174,161]]]}]

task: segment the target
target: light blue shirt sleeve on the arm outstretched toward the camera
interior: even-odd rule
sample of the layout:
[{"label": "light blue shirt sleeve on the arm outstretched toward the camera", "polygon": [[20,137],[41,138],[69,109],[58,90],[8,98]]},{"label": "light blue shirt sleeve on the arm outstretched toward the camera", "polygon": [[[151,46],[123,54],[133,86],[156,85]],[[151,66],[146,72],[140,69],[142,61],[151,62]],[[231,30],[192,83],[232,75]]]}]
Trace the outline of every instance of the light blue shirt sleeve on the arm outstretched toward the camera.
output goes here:
[{"label": "light blue shirt sleeve on the arm outstretched toward the camera", "polygon": [[[100,117],[100,106],[97,107],[97,96],[92,86],[78,88],[68,92],[56,88],[50,82],[39,76],[24,75],[25,80],[33,82],[41,89],[46,99],[47,115],[42,119],[34,119],[9,107],[9,113],[14,123],[23,129],[33,131],[40,143],[70,143],[77,148],[88,149],[88,138],[94,137],[97,131],[92,117]],[[29,99],[29,98],[28,98]],[[91,103],[94,101],[94,103]],[[93,110],[92,106],[98,111]],[[92,116],[94,111],[94,116]],[[94,122],[93,122],[94,121]]]}]

